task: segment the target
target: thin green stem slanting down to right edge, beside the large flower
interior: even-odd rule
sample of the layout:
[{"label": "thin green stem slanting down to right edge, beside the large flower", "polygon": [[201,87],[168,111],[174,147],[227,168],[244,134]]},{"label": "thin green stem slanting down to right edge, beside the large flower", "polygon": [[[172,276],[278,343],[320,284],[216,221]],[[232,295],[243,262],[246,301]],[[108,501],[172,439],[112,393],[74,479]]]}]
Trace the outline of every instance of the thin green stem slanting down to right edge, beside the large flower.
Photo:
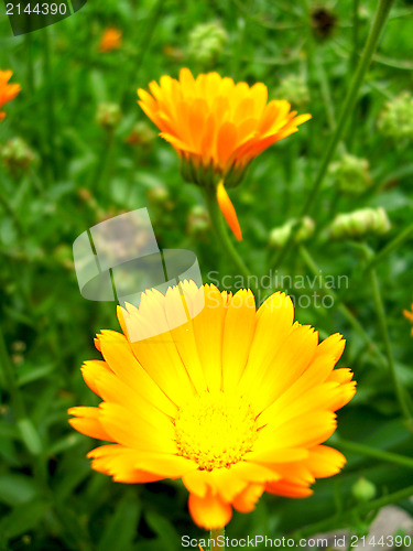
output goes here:
[{"label": "thin green stem slanting down to right edge, beside the large flower", "polygon": [[389,369],[390,369],[390,375],[391,375],[391,378],[393,381],[394,392],[395,392],[395,396],[396,396],[398,401],[399,401],[400,410],[401,410],[404,419],[407,421],[407,425],[410,428],[413,428],[412,414],[409,410],[407,403],[405,401],[404,390],[401,386],[398,374],[395,371],[393,353],[392,353],[391,345],[390,345],[388,323],[385,320],[383,300],[381,296],[379,280],[378,280],[374,268],[370,268],[369,276],[370,276],[370,282],[371,282],[371,288],[372,288],[372,292],[373,292],[373,299],[374,299],[374,303],[376,303],[376,311],[377,311],[377,315],[379,318],[381,338],[383,341],[384,352],[385,352],[385,355],[388,357]]}]

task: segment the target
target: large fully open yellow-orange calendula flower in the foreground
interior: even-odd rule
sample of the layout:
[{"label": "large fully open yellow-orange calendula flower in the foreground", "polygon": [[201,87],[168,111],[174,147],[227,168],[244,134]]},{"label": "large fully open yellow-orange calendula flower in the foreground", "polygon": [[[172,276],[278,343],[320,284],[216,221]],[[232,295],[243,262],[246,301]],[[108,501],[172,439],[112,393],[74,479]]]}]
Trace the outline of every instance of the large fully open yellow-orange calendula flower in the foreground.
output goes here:
[{"label": "large fully open yellow-orange calendula flower in the foreground", "polygon": [[188,281],[119,307],[122,333],[102,331],[104,359],[81,369],[102,401],[69,410],[77,431],[111,442],[89,452],[93,468],[121,483],[182,478],[206,529],[227,525],[232,508],[251,511],[264,491],[309,496],[346,462],[322,444],[356,382],[334,369],[341,335],[318,343],[293,317],[284,293],[256,311],[249,290]]}]

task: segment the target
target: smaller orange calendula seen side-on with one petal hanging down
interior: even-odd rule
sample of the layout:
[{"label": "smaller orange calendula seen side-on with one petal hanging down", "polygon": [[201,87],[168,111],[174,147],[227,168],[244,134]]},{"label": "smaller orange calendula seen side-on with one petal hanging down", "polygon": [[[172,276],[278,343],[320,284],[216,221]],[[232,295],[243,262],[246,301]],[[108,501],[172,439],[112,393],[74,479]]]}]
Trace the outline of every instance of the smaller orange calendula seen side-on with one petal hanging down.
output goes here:
[{"label": "smaller orange calendula seen side-on with one petal hanging down", "polygon": [[[138,90],[139,105],[178,153],[184,180],[202,186],[215,188],[220,181],[226,187],[238,185],[256,156],[311,118],[291,111],[285,99],[268,102],[262,83],[235,84],[217,73],[194,78],[183,68],[178,80],[165,75],[149,88]],[[235,210],[224,195],[222,186],[219,205],[240,238]]]}]

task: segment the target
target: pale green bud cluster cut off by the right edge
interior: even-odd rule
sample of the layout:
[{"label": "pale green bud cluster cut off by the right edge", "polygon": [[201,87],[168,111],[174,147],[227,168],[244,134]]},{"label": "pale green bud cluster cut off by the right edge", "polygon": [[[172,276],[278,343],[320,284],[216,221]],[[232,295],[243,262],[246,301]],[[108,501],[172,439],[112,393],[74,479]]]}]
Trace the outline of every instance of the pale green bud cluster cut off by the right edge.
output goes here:
[{"label": "pale green bud cluster cut off by the right edge", "polygon": [[410,91],[402,91],[385,104],[378,128],[395,141],[413,140],[413,97]]}]

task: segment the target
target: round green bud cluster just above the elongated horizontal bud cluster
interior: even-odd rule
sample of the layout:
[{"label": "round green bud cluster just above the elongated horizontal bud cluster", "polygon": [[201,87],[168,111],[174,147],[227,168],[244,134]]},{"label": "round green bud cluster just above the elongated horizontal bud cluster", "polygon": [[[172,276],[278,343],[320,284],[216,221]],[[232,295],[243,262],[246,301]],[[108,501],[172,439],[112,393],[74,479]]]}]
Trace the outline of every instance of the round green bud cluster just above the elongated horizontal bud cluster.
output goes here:
[{"label": "round green bud cluster just above the elongated horizontal bud cluster", "polygon": [[371,184],[369,161],[349,153],[345,153],[338,161],[332,163],[329,173],[338,188],[349,195],[359,195]]}]

